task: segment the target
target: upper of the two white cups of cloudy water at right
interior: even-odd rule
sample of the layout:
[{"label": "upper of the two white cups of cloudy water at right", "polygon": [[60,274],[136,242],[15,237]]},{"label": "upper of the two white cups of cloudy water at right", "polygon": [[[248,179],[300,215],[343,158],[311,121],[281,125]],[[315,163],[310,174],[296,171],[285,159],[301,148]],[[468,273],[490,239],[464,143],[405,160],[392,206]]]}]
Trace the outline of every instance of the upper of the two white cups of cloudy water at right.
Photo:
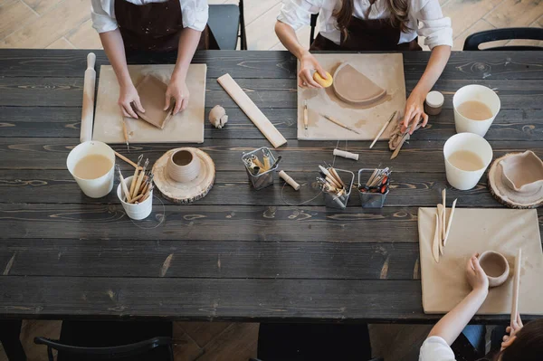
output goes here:
[{"label": "upper of the two white cups of cloudy water at right", "polygon": [[[464,117],[458,107],[465,101],[481,101],[488,106],[492,111],[492,117],[485,120],[473,120]],[[460,88],[452,97],[452,108],[454,109],[454,125],[457,133],[474,133],[484,137],[486,132],[491,128],[492,122],[500,111],[500,97],[494,90],[482,85],[472,84]]]}]

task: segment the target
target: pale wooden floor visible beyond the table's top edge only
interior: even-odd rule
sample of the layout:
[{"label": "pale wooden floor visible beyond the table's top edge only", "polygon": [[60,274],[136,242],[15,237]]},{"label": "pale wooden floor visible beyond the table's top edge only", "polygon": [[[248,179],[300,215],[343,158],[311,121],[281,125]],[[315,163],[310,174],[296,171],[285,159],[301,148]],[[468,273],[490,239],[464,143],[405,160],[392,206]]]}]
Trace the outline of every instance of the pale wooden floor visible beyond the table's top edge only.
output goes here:
[{"label": "pale wooden floor visible beyond the table's top edge only", "polygon": [[[237,0],[209,0],[210,4]],[[452,19],[454,49],[481,30],[511,26],[543,26],[541,0],[440,0]],[[273,32],[281,0],[245,0],[247,41],[251,50],[283,49]],[[309,43],[309,27],[300,29]],[[531,42],[534,43],[534,42]],[[535,42],[543,43],[543,42]],[[89,0],[0,0],[0,48],[96,49]]]}]

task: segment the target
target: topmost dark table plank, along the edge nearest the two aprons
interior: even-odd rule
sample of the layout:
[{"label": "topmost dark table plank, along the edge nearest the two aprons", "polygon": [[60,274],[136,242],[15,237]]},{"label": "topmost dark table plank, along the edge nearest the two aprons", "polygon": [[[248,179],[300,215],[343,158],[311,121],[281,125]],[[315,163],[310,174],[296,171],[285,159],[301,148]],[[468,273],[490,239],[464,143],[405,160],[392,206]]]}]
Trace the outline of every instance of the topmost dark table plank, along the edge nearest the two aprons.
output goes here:
[{"label": "topmost dark table plank, along the edge nearest the two aprons", "polygon": [[[86,50],[3,49],[0,77],[82,77]],[[109,63],[104,52],[97,55],[97,68]],[[405,78],[418,80],[430,57],[429,52],[404,52]],[[134,54],[129,63],[175,63],[175,54]],[[296,79],[296,58],[289,52],[196,52],[195,63],[207,63],[208,77],[229,72],[233,78]],[[452,52],[442,79],[543,79],[543,54],[538,52]]]}]

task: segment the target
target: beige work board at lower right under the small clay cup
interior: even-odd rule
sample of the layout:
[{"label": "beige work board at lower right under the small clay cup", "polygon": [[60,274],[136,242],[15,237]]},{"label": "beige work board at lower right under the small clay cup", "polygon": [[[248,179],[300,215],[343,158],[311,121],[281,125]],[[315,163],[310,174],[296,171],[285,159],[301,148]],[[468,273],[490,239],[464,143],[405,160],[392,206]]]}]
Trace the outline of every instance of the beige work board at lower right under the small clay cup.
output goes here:
[{"label": "beige work board at lower right under the small clay cup", "polygon": [[[465,268],[472,253],[496,251],[509,261],[510,277],[489,291],[477,314],[510,314],[515,256],[521,248],[519,312],[543,315],[543,252],[536,210],[456,208],[439,263],[432,256],[435,213],[435,208],[419,208],[418,212],[425,313],[446,313],[456,306],[471,291]],[[448,207],[446,219],[449,213]]]}]

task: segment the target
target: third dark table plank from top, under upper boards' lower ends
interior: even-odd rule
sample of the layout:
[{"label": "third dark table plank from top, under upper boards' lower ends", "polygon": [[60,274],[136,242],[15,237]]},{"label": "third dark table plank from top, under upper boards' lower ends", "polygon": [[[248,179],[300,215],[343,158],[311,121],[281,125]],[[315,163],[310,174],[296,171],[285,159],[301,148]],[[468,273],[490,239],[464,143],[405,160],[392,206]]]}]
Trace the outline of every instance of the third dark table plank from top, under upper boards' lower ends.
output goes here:
[{"label": "third dark table plank from top, under upper boards' lower ends", "polygon": [[[262,139],[241,109],[228,109],[228,123],[214,128],[205,109],[205,139]],[[273,109],[268,119],[287,139],[297,138],[296,109]],[[0,107],[0,138],[79,138],[81,107]],[[47,121],[43,121],[47,119]],[[456,134],[452,109],[430,117],[429,125],[416,132],[416,140],[440,140]],[[485,138],[488,140],[537,140],[543,134],[543,112],[538,109],[501,109]],[[318,144],[318,143],[315,143]],[[349,142],[354,144],[354,142]]]}]

